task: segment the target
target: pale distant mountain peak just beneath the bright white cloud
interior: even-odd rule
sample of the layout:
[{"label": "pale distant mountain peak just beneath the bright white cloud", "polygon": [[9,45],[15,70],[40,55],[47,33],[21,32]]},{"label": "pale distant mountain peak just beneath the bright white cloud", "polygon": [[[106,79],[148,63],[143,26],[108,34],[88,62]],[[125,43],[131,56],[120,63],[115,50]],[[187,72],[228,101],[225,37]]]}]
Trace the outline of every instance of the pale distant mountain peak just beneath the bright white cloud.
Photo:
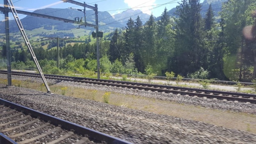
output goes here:
[{"label": "pale distant mountain peak just beneath the bright white cloud", "polygon": [[113,18],[122,23],[124,26],[126,26],[126,23],[128,22],[128,19],[130,19],[130,17],[135,21],[137,16],[140,17],[142,23],[146,23],[146,21],[148,21],[150,15],[146,14],[146,13],[142,13],[142,11],[140,10],[133,10],[133,9],[129,9],[126,11],[123,11],[122,13],[119,13],[115,16],[113,16]]}]

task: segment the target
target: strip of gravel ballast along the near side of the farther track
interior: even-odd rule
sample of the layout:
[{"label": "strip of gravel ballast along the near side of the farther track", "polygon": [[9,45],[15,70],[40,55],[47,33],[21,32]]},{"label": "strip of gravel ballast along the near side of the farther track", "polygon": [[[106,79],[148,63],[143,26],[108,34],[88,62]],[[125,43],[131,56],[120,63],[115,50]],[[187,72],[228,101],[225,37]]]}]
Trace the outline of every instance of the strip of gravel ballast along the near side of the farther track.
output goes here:
[{"label": "strip of gravel ballast along the near side of the farther track", "polygon": [[[0,78],[6,79],[5,74],[0,74]],[[30,78],[24,76],[12,76],[13,79],[17,80],[28,80]],[[42,79],[39,78],[31,78],[32,81],[36,83],[42,83]],[[136,95],[141,97],[148,97],[148,98],[155,98],[159,100],[168,100],[173,101],[180,104],[188,104],[194,106],[202,106],[207,108],[213,108],[218,110],[230,110],[235,112],[245,112],[249,114],[256,114],[256,105],[255,104],[246,104],[242,102],[233,102],[233,101],[224,101],[224,100],[214,100],[214,99],[205,99],[201,97],[191,97],[191,96],[180,96],[179,94],[172,94],[172,93],[158,93],[158,92],[151,92],[151,91],[144,91],[144,90],[134,90],[128,88],[121,88],[121,87],[112,87],[112,86],[102,86],[102,85],[95,85],[89,83],[76,83],[76,82],[67,82],[67,81],[58,81],[47,79],[48,83],[62,85],[62,86],[73,86],[73,87],[80,87],[85,89],[94,89],[94,90],[102,90],[102,91],[110,91],[128,95]]]}]

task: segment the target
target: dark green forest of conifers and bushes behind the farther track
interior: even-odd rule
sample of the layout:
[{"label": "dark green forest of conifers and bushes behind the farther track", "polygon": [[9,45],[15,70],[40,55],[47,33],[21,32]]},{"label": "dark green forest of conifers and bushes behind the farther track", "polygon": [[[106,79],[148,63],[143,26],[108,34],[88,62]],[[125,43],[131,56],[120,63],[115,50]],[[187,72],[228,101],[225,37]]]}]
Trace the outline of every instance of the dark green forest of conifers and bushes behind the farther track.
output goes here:
[{"label": "dark green forest of conifers and bushes behind the farther track", "polygon": [[[116,29],[108,39],[100,38],[101,72],[157,76],[174,72],[189,78],[241,82],[255,79],[256,0],[229,0],[222,4],[218,17],[209,5],[204,18],[199,2],[183,0],[176,7],[176,17],[170,17],[165,8],[160,20],[151,15],[144,25],[139,16],[130,18],[124,31]],[[38,45],[34,51],[47,72],[97,70],[96,44],[88,40],[74,46],[63,42],[60,68],[55,66],[56,50]],[[30,54],[12,50],[12,66],[25,65],[34,67]]]}]

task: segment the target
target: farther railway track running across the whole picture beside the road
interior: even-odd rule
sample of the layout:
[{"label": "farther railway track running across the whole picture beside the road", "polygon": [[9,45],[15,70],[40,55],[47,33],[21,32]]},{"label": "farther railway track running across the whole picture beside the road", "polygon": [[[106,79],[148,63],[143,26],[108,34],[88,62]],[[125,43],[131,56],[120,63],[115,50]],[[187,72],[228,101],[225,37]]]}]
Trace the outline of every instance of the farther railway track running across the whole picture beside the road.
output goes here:
[{"label": "farther railway track running across the whole picture beside the road", "polygon": [[[1,70],[0,73],[7,74],[7,71]],[[28,73],[28,72],[12,72],[12,75],[40,78],[39,74]],[[219,99],[219,100],[249,102],[249,103],[256,104],[256,95],[248,94],[248,93],[205,90],[205,89],[178,87],[178,86],[133,83],[133,82],[125,82],[125,81],[104,80],[104,79],[90,79],[90,78],[81,78],[81,77],[72,77],[72,76],[58,76],[58,75],[47,75],[47,74],[45,74],[44,76],[46,79],[72,81],[72,82],[79,82],[79,83],[92,83],[92,84],[116,86],[116,87],[126,87],[126,88],[139,89],[139,90],[151,90],[151,91],[157,91],[157,92],[181,94],[185,96],[206,97],[206,98]]]}]

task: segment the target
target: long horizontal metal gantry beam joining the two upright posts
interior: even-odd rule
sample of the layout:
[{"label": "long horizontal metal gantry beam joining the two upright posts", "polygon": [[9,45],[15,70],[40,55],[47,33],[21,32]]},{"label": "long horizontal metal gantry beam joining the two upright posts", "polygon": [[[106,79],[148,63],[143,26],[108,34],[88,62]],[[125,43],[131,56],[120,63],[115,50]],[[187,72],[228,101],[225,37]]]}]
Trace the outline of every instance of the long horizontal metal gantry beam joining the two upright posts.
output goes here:
[{"label": "long horizontal metal gantry beam joining the two upright posts", "polygon": [[[3,7],[0,7],[0,11],[12,12],[11,9],[3,8]],[[34,13],[34,12],[26,12],[26,11],[21,11],[21,10],[16,10],[16,12],[19,13],[19,14],[24,14],[24,15],[29,15],[29,16],[37,16],[37,17],[48,18],[48,19],[54,19],[54,20],[59,20],[59,21],[67,22],[67,23],[77,23],[77,24],[80,24],[80,25],[98,27],[97,25],[90,24],[90,23],[77,22],[77,21],[74,21],[74,20],[71,20],[71,19],[64,19],[64,18],[59,18],[59,17],[55,17],[55,16],[48,16],[48,15],[43,15],[43,14]]]}]

